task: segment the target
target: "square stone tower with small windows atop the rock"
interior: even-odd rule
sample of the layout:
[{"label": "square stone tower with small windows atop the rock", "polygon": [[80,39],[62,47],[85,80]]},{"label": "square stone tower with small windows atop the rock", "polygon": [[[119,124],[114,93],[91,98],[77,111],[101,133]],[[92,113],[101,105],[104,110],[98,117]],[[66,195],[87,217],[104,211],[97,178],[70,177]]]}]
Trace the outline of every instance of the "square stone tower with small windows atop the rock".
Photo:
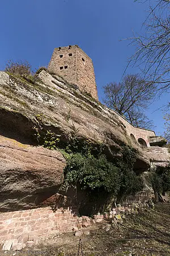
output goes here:
[{"label": "square stone tower with small windows atop the rock", "polygon": [[55,48],[48,68],[98,100],[94,65],[79,46]]}]

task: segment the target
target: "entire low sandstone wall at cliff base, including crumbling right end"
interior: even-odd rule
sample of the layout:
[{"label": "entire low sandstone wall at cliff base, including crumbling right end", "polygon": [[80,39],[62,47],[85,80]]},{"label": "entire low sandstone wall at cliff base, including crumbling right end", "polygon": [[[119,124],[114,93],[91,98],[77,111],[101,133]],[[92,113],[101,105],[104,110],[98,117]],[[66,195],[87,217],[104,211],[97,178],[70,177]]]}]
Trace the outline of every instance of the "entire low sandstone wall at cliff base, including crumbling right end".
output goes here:
[{"label": "entire low sandstone wall at cliff base, including crumbling right end", "polygon": [[[154,207],[154,205],[139,202],[124,207],[118,204],[110,212],[97,213],[93,218],[77,217],[76,211],[69,208],[60,208],[56,212],[50,208],[38,208],[1,213],[0,242],[3,244],[3,250],[21,250],[25,246],[31,247],[46,238],[71,230],[75,232],[75,236],[88,235],[90,233],[88,226],[104,220],[112,220],[113,227],[118,228],[118,224],[123,222],[124,214],[143,212],[146,207]],[[105,228],[108,231],[108,225]]]}]

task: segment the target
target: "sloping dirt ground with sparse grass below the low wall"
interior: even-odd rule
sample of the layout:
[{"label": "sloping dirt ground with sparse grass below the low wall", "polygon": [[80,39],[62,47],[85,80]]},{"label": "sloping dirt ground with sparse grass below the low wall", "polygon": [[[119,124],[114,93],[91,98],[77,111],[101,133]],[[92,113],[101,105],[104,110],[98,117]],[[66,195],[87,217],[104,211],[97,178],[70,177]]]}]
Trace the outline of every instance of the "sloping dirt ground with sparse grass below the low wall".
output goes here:
[{"label": "sloping dirt ground with sparse grass below the low wall", "polygon": [[[46,240],[42,245],[13,255],[83,255],[83,256],[169,256],[170,255],[170,204],[155,205],[144,213],[130,215],[124,223],[106,232],[109,222],[96,224],[90,235],[75,237],[61,234]],[[81,246],[82,244],[82,246]],[[1,254],[0,255],[12,255]]]}]

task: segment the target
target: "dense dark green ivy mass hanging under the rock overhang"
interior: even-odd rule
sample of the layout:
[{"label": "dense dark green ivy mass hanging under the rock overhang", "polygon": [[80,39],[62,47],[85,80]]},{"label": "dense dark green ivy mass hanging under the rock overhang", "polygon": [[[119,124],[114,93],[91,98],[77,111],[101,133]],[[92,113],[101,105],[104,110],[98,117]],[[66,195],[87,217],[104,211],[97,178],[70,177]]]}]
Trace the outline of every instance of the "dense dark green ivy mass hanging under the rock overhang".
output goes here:
[{"label": "dense dark green ivy mass hanging under the rock overhang", "polygon": [[71,154],[67,159],[63,187],[80,184],[88,191],[98,189],[120,196],[138,192],[143,188],[143,180],[133,171],[135,159],[135,152],[129,147],[124,148],[122,158],[115,162],[109,162],[102,154],[95,157],[91,151]]}]

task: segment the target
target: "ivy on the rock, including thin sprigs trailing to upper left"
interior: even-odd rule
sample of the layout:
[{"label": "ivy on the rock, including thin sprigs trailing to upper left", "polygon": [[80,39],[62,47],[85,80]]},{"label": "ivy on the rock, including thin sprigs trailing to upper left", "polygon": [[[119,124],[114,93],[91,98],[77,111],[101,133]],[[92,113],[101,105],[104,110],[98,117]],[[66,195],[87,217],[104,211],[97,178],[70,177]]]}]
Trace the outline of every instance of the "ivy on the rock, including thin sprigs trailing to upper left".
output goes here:
[{"label": "ivy on the rock, including thin sprigs trailing to upper left", "polygon": [[128,195],[143,188],[143,181],[135,174],[133,167],[136,152],[129,146],[122,146],[120,157],[107,159],[103,143],[92,143],[79,138],[78,129],[72,127],[66,142],[59,140],[52,131],[42,128],[41,115],[37,115],[38,127],[34,127],[37,141],[42,146],[60,150],[65,156],[67,166],[62,189],[80,187],[87,192],[107,192],[114,196]]}]

